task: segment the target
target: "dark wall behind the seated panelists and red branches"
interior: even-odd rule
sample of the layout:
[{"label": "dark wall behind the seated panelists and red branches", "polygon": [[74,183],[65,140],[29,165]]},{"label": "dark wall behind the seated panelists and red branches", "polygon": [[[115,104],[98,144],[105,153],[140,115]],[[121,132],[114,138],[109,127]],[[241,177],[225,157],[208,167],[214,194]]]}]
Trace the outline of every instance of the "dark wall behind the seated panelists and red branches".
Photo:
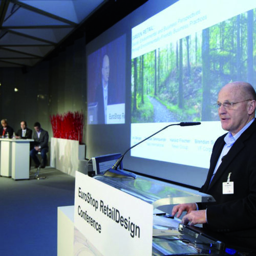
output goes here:
[{"label": "dark wall behind the seated panelists and red branches", "polygon": [[[7,118],[15,132],[20,129],[21,120],[26,120],[31,129],[38,121],[50,138],[50,115],[83,111],[87,120],[85,48],[85,38],[80,38],[57,57],[42,61],[26,72],[21,68],[2,68],[0,118]],[[83,142],[85,134],[84,128]]]}]

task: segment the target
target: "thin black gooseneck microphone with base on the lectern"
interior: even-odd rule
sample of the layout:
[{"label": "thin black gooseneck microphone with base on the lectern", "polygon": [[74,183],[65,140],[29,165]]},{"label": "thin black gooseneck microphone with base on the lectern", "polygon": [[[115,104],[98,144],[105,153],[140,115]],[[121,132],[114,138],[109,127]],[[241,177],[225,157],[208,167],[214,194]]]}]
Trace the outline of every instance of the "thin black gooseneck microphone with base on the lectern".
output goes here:
[{"label": "thin black gooseneck microphone with base on the lectern", "polygon": [[169,124],[165,127],[163,127],[161,130],[159,130],[158,132],[146,137],[145,139],[139,141],[138,143],[136,143],[135,145],[129,147],[124,154],[117,159],[117,161],[115,162],[115,164],[108,170],[106,170],[106,172],[103,174],[103,176],[111,176],[111,177],[117,177],[117,178],[132,178],[135,179],[136,175],[130,172],[125,172],[124,170],[118,169],[118,166],[120,165],[120,163],[123,160],[124,155],[130,151],[132,148],[134,148],[135,146],[139,145],[140,143],[144,142],[145,140],[148,140],[149,138],[153,137],[154,135],[162,132],[163,130],[165,130],[166,128],[168,128],[169,126],[173,126],[173,125],[180,125],[180,126],[192,126],[192,125],[199,125],[201,124],[201,122],[180,122],[180,123],[173,123],[173,124]]}]

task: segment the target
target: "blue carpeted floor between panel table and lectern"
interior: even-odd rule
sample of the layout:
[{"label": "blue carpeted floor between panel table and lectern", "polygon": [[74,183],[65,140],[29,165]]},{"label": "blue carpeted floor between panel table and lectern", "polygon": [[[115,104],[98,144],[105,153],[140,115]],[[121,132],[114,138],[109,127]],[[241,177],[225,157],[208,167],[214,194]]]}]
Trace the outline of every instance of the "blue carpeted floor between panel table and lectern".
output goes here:
[{"label": "blue carpeted floor between panel table and lectern", "polygon": [[74,205],[75,178],[46,167],[35,180],[0,177],[0,255],[56,256],[57,207]]}]

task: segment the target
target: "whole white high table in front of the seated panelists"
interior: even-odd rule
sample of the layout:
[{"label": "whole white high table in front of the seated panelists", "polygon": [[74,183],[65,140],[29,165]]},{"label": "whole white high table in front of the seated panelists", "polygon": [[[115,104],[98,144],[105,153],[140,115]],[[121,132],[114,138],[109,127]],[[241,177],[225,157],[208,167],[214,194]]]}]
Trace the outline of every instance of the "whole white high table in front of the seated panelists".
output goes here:
[{"label": "whole white high table in front of the seated panelists", "polygon": [[14,180],[29,179],[29,151],[32,139],[0,139],[1,175]]}]

